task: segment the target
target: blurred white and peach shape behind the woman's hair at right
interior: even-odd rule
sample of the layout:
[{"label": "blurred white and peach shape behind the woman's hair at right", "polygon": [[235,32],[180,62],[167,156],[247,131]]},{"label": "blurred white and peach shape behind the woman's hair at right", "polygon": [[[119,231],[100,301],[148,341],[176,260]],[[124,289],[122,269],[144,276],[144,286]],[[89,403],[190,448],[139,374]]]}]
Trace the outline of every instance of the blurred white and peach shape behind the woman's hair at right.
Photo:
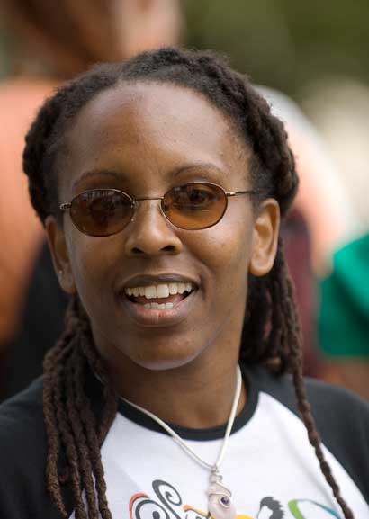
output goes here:
[{"label": "blurred white and peach shape behind the woman's hair at right", "polygon": [[333,255],[360,226],[335,162],[318,130],[287,95],[265,86],[272,112],[286,126],[301,182],[293,207],[302,213],[311,236],[311,267],[317,278],[330,272]]}]

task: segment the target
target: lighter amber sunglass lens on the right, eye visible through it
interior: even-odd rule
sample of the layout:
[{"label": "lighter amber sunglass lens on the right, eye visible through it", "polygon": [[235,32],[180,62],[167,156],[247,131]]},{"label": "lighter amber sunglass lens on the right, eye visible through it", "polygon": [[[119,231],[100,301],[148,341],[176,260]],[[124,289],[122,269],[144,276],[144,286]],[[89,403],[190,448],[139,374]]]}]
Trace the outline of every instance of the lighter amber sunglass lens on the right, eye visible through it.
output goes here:
[{"label": "lighter amber sunglass lens on the right, eye visible through it", "polygon": [[162,204],[166,218],[178,228],[208,228],[227,209],[227,196],[211,183],[187,183],[166,193]]}]

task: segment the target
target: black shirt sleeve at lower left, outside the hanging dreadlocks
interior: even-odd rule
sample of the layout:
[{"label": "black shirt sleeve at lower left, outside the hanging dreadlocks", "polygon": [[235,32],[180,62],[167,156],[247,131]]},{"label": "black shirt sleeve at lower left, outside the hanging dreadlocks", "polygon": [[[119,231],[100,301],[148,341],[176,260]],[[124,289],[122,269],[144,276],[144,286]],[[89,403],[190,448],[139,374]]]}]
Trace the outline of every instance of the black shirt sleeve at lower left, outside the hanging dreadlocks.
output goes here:
[{"label": "black shirt sleeve at lower left, outside the hanging dreadlocks", "polygon": [[[61,519],[46,490],[46,444],[38,379],[0,406],[0,517]],[[72,497],[63,492],[70,515]]]}]

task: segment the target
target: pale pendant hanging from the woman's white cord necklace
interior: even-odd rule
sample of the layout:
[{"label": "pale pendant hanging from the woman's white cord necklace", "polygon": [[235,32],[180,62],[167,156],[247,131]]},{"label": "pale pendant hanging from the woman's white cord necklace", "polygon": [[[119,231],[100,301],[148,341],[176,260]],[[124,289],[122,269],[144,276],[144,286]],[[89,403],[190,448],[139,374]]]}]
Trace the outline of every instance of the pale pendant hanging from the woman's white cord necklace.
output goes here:
[{"label": "pale pendant hanging from the woman's white cord necklace", "polygon": [[208,490],[209,513],[213,519],[236,519],[236,508],[230,500],[232,493],[222,485],[222,479],[217,468],[211,470],[211,485]]}]

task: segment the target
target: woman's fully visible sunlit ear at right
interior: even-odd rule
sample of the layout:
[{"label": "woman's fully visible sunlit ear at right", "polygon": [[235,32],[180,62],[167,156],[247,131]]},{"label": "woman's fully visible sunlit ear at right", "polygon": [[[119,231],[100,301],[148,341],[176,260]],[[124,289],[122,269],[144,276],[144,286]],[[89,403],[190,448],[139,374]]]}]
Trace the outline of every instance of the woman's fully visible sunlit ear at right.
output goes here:
[{"label": "woman's fully visible sunlit ear at right", "polygon": [[262,202],[254,224],[253,248],[248,270],[264,276],[272,270],[278,246],[280,227],[279,204],[274,198]]}]

